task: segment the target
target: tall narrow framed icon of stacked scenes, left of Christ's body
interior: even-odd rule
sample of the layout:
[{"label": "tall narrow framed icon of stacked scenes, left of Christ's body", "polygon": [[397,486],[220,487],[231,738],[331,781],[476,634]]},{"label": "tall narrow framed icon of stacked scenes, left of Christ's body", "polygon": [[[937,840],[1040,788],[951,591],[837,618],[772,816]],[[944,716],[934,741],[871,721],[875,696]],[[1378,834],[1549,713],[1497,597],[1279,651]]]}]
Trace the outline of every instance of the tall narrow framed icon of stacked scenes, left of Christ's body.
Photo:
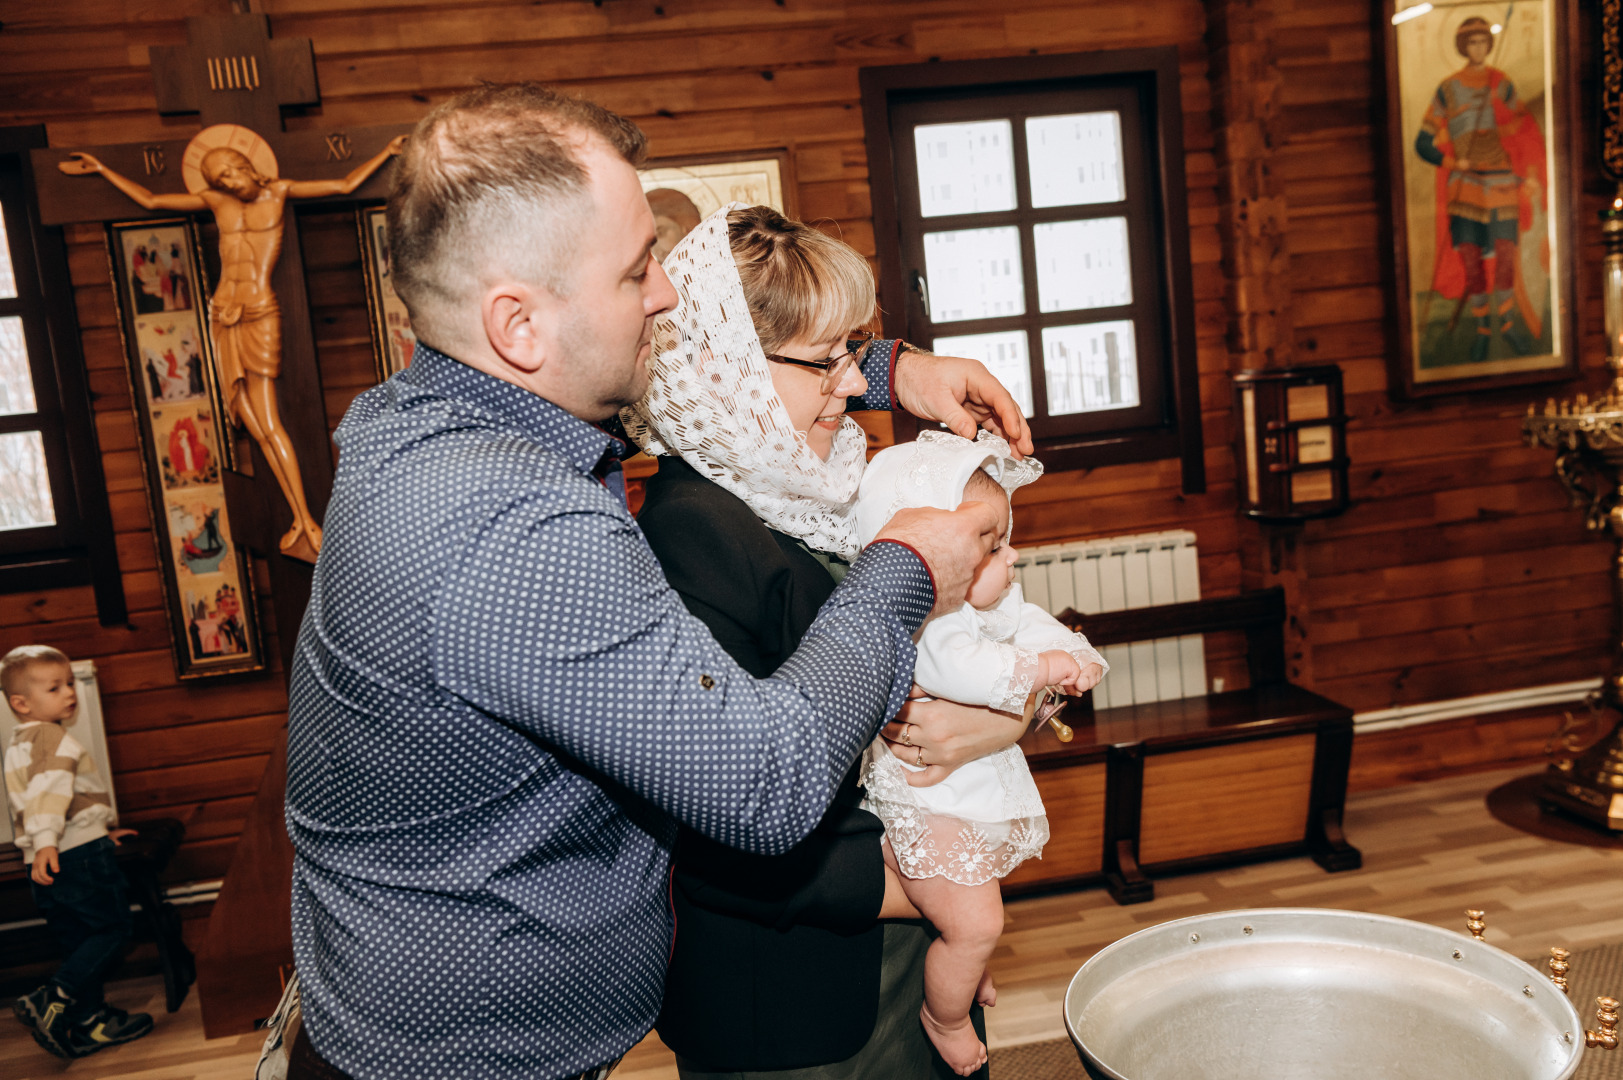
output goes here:
[{"label": "tall narrow framed icon of stacked scenes, left of Christ's body", "polygon": [[232,445],[200,315],[208,287],[196,227],[187,218],[114,224],[109,255],[175,674],[260,671],[252,564],[232,539],[221,476]]}]

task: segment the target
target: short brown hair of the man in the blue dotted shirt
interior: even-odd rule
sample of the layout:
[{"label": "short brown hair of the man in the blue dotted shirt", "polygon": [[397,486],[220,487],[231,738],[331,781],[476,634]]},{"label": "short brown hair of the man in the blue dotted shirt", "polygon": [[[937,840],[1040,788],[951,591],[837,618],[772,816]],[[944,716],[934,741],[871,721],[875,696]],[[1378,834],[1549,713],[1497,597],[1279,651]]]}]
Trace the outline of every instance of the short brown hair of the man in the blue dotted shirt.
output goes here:
[{"label": "short brown hair of the man in the blue dotted shirt", "polygon": [[485,83],[451,97],[417,123],[390,192],[394,291],[412,323],[469,300],[492,266],[558,294],[579,240],[586,169],[583,136],[641,164],[641,128],[579,97],[537,83]]}]

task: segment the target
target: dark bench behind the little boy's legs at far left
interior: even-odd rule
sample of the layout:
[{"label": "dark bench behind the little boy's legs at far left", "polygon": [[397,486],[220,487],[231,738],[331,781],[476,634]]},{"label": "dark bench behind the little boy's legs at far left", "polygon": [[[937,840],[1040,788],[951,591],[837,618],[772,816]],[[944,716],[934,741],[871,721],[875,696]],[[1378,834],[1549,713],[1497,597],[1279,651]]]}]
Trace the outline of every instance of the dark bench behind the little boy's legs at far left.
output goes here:
[{"label": "dark bench behind the little boy's legs at far left", "polygon": [[[130,900],[140,906],[135,918],[135,940],[157,945],[157,961],[164,973],[164,1005],[169,1012],[175,1012],[196,979],[196,966],[192,950],[180,935],[180,914],[164,900],[157,875],[180,846],[185,827],[172,819],[159,819],[141,822],[135,830],[138,835],[125,836],[118,845],[118,867],[130,883]],[[15,845],[0,845],[0,921],[19,924],[0,931],[0,957],[5,957],[5,968],[60,960],[55,937],[42,921],[36,921],[39,911],[34,908],[28,874],[23,853]]]}]

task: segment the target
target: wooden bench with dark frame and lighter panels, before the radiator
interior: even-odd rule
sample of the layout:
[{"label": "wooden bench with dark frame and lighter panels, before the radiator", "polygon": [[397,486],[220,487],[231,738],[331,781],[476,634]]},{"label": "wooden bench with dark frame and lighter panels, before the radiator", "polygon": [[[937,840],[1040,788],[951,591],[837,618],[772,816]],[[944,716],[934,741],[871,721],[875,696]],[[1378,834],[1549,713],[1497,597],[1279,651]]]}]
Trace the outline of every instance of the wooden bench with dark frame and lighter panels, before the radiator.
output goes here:
[{"label": "wooden bench with dark frame and lighter panels, before the radiator", "polygon": [[1006,893],[1102,880],[1141,903],[1167,874],[1298,854],[1331,872],[1362,864],[1341,828],[1352,710],[1285,679],[1284,590],[1060,619],[1094,645],[1243,630],[1251,685],[1097,711],[1089,695],[1061,715],[1071,742],[1027,732],[1052,838]]}]

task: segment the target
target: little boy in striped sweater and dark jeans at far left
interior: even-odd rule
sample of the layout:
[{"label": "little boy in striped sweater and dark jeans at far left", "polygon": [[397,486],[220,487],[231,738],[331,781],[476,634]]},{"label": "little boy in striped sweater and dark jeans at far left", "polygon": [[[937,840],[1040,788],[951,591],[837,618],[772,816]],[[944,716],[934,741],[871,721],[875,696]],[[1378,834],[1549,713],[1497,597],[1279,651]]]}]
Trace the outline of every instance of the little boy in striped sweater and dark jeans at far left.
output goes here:
[{"label": "little boy in striped sweater and dark jeans at far left", "polygon": [[34,905],[67,958],[32,994],[13,1004],[34,1041],[57,1057],[84,1057],[153,1030],[144,1012],[112,1009],[102,979],[130,940],[130,900],[114,846],[107,784],[89,752],[67,731],[78,711],[68,658],[23,645],[0,658],[0,690],[18,724],[5,749],[5,788],[16,846],[32,870]]}]

